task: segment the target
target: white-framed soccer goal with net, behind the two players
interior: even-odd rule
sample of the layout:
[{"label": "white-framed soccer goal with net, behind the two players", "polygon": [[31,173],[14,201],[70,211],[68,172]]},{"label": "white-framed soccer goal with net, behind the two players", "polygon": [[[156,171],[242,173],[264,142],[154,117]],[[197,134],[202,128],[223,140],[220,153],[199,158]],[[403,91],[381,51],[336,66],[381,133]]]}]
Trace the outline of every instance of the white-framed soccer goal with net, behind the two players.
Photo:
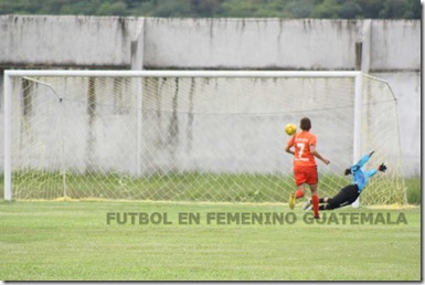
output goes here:
[{"label": "white-framed soccer goal with net, behind the two players", "polygon": [[404,203],[396,101],[359,72],[6,71],[4,200],[286,202],[286,124],[312,122],[319,194],[375,150],[362,204]]}]

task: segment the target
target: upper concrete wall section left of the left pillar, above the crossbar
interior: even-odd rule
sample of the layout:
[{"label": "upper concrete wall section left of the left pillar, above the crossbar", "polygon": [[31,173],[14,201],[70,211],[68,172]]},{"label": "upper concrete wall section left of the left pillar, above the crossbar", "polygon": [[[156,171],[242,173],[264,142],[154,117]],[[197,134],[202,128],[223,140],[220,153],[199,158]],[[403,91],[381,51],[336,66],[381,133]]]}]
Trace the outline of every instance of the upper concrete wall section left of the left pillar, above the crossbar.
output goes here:
[{"label": "upper concrete wall section left of the left pillar, above the crossbar", "polygon": [[0,17],[0,65],[124,68],[140,19]]}]

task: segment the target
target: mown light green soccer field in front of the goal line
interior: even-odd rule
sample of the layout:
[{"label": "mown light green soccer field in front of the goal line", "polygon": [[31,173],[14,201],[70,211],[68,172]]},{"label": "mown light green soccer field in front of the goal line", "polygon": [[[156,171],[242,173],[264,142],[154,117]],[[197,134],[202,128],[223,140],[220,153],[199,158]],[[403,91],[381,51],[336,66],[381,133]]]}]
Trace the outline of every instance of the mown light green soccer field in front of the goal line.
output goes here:
[{"label": "mown light green soccer field in front of the goal line", "polygon": [[419,208],[321,215],[286,204],[2,202],[0,279],[422,279]]}]

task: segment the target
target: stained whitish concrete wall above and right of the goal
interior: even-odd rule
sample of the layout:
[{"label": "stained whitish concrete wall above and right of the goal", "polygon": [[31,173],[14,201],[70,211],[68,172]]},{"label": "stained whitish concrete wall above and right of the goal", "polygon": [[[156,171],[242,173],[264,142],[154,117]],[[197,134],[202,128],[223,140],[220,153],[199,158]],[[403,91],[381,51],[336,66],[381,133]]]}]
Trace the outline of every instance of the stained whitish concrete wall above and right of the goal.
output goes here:
[{"label": "stained whitish concrete wall above and right of the goal", "polygon": [[0,39],[1,68],[361,68],[391,84],[419,175],[421,21],[1,15]]}]

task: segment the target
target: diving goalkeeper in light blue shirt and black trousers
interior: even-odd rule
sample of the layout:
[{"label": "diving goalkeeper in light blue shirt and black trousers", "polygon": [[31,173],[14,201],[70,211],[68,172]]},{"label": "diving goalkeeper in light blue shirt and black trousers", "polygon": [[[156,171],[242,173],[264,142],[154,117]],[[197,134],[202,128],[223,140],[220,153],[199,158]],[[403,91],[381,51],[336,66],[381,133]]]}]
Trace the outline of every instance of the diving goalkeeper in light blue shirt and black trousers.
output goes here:
[{"label": "diving goalkeeper in light blue shirt and black trousers", "polygon": [[[352,184],[342,188],[333,198],[325,197],[319,199],[319,210],[333,210],[344,205],[352,204],[361,194],[366,186],[369,178],[374,176],[378,171],[385,172],[386,166],[380,165],[378,168],[365,170],[363,166],[369,161],[374,151],[364,155],[359,162],[351,168],[346,169],[344,175],[352,175]],[[302,205],[304,210],[311,209],[311,199],[308,199]]]}]

